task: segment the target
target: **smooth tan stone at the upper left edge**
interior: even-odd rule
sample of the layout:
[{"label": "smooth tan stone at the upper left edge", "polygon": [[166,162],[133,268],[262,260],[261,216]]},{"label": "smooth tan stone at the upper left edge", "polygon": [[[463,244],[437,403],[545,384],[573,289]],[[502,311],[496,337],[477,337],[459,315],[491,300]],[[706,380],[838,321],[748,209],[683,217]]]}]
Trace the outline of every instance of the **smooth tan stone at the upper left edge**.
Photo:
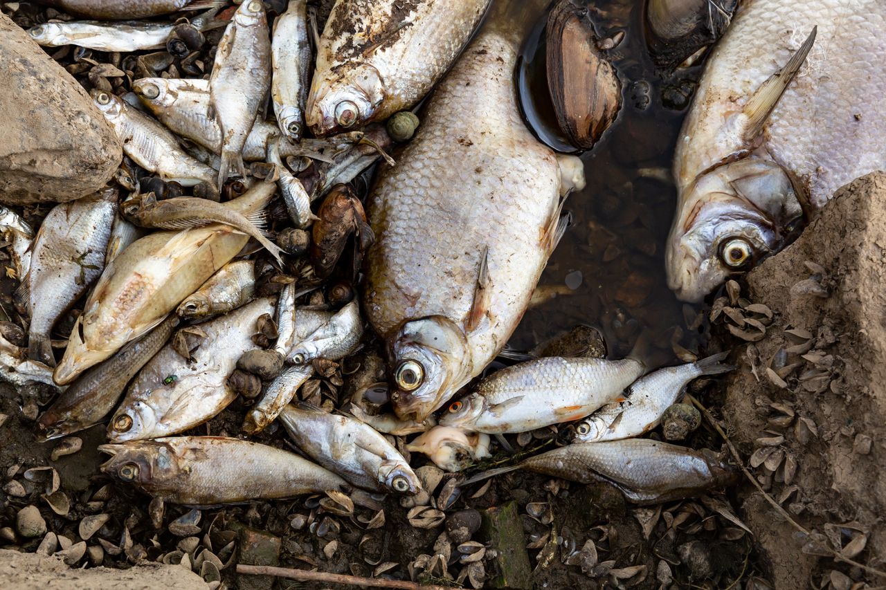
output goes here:
[{"label": "smooth tan stone at the upper left edge", "polygon": [[81,85],[0,14],[0,203],[64,202],[100,189],[122,147]]}]

